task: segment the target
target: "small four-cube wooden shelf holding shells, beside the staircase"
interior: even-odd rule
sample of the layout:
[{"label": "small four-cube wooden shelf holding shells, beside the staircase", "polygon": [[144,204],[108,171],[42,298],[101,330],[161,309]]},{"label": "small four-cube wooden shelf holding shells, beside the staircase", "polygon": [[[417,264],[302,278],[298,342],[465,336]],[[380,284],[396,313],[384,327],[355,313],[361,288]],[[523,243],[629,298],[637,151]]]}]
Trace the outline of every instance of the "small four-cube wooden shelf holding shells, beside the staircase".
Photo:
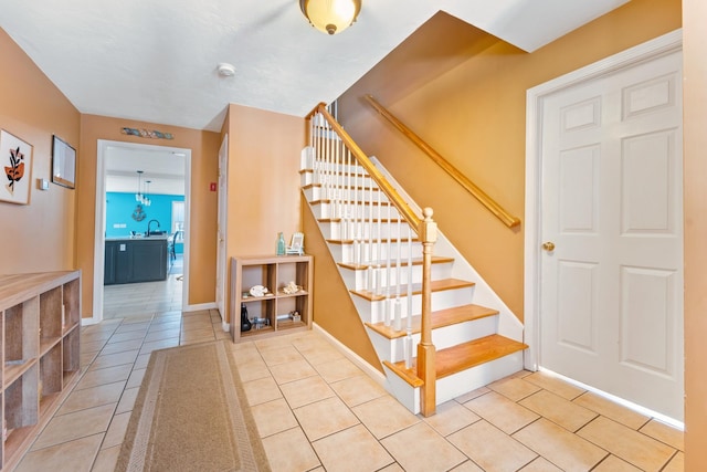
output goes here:
[{"label": "small four-cube wooden shelf holding shells, beside the staircase", "polygon": [[[275,336],[283,332],[312,328],[312,255],[235,256],[231,259],[231,338],[234,343]],[[287,294],[283,289],[300,286]],[[250,295],[251,287],[267,287],[265,296]],[[245,304],[252,326],[241,332],[241,304]],[[299,321],[289,315],[297,312]]]}]

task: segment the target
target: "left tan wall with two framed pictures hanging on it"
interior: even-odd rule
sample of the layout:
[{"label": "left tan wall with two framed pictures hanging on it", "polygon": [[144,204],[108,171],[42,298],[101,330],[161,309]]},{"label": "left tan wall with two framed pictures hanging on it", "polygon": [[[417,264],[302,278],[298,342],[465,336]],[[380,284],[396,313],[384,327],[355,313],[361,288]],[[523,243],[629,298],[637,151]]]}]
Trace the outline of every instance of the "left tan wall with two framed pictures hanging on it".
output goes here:
[{"label": "left tan wall with two framed pictures hanging on it", "polygon": [[[53,134],[81,156],[78,111],[1,29],[0,63],[0,128],[33,146],[30,204],[0,202],[0,274],[75,269],[76,191],[40,191],[36,179],[51,181]],[[0,169],[8,162],[0,156]]]}]

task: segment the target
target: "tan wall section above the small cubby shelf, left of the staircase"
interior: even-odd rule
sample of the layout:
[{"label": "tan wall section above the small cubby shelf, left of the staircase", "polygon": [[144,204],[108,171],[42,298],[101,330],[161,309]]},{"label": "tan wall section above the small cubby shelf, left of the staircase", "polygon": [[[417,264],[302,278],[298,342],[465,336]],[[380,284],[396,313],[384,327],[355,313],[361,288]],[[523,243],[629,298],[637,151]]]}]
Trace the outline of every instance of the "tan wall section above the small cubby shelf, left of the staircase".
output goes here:
[{"label": "tan wall section above the small cubby shelf, left of the staircase", "polygon": [[[226,254],[275,255],[277,233],[289,243],[302,231],[299,154],[305,147],[302,117],[231,104]],[[305,234],[305,247],[307,234]],[[230,287],[230,274],[226,287]],[[273,289],[273,287],[270,287]],[[226,290],[229,321],[230,294]]]}]

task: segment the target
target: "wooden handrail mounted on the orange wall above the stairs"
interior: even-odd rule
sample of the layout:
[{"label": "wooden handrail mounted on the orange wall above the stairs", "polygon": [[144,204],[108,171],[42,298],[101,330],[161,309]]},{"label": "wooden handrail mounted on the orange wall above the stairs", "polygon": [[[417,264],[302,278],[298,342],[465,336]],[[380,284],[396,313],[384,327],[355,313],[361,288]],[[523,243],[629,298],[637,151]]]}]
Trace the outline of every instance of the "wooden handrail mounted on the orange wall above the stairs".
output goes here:
[{"label": "wooden handrail mounted on the orange wall above the stairs", "polygon": [[400,133],[405,135],[412,143],[422,149],[434,162],[442,167],[454,180],[456,180],[466,191],[468,191],[474,198],[476,198],[484,207],[504,222],[508,228],[515,228],[520,224],[520,219],[514,217],[506,211],[500,204],[498,204],[493,198],[490,198],[484,190],[478,188],[466,176],[460,172],[456,167],[452,166],[440,153],[434,150],[432,146],[426,144],[420,136],[418,136],[412,129],[405,126],[400,119],[395,118],[383,105],[378,103],[372,95],[366,95],[366,99],[371,104],[373,108],[378,111],[386,119],[388,119]]}]

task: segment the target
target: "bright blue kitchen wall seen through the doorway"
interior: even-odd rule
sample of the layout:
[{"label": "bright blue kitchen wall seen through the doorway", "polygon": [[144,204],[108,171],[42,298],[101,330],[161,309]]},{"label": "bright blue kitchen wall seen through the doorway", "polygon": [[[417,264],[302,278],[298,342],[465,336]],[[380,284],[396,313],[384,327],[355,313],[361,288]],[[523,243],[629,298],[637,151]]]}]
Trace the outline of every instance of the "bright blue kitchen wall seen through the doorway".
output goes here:
[{"label": "bright blue kitchen wall seen through the doorway", "polygon": [[[151,204],[141,207],[144,214],[139,214],[135,193],[106,192],[106,238],[128,237],[130,231],[144,234],[147,232],[147,223],[150,220],[159,221],[160,231],[171,233],[172,201],[184,201],[184,197],[152,193],[149,197]],[[155,222],[150,230],[157,230]],[[182,247],[181,243],[176,244],[175,252],[181,253]]]}]

